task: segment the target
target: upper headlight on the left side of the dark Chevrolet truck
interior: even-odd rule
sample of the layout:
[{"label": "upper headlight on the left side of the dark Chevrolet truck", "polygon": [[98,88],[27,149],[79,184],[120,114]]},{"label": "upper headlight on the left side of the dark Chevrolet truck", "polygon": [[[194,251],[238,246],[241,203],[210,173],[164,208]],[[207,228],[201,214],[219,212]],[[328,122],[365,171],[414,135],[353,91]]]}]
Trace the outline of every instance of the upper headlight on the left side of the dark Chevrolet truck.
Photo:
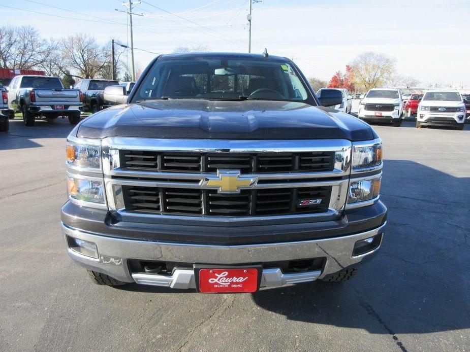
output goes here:
[{"label": "upper headlight on the left side of the dark Chevrolet truck", "polygon": [[67,163],[69,166],[101,170],[101,141],[88,138],[67,139]]}]

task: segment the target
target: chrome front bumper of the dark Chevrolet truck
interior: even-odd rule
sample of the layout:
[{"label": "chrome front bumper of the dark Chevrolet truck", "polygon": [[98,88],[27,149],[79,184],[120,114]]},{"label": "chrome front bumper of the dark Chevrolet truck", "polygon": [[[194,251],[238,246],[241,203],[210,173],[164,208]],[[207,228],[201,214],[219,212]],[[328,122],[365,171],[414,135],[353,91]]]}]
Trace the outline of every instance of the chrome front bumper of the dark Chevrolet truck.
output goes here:
[{"label": "chrome front bumper of the dark Chevrolet truck", "polygon": [[[192,269],[175,269],[172,275],[132,273],[129,270],[127,260],[237,265],[326,258],[323,270],[283,273],[278,268],[263,269],[261,286],[278,287],[321,279],[325,275],[359,263],[366,256],[377,251],[380,245],[373,251],[353,257],[352,252],[356,241],[383,233],[385,225],[366,232],[341,237],[250,245],[183,244],[118,239],[107,234],[81,231],[63,223],[62,231],[65,235],[96,243],[99,258],[87,257],[68,248],[70,257],[89,270],[99,271],[128,283],[190,289],[195,288]],[[67,240],[66,243],[68,243]]]}]

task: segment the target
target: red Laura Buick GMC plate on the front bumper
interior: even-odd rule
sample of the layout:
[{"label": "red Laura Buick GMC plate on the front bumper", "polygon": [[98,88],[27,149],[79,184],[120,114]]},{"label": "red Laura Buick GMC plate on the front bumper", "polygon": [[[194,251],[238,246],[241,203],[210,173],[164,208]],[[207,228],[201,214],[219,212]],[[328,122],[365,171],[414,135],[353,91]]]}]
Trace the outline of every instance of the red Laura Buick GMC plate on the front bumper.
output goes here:
[{"label": "red Laura Buick GMC plate on the front bumper", "polygon": [[258,269],[201,269],[199,292],[256,292]]}]

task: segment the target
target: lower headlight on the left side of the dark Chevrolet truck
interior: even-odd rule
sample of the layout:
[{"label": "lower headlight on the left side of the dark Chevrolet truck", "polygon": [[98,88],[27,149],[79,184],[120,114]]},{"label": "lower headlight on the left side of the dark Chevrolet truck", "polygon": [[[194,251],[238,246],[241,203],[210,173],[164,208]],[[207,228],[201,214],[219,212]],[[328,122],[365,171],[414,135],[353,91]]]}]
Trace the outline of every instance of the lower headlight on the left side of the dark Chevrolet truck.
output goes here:
[{"label": "lower headlight on the left side of the dark Chevrolet truck", "polygon": [[67,174],[67,191],[75,200],[105,205],[103,179]]}]

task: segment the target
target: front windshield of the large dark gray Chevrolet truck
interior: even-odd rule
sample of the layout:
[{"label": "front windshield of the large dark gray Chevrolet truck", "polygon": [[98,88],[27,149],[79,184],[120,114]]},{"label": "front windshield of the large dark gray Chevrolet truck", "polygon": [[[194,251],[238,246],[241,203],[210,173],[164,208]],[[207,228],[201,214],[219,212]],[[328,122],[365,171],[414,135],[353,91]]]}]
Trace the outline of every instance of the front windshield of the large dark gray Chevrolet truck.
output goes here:
[{"label": "front windshield of the large dark gray Chevrolet truck", "polygon": [[159,98],[303,101],[309,95],[285,61],[184,57],[155,61],[133,100]]}]

